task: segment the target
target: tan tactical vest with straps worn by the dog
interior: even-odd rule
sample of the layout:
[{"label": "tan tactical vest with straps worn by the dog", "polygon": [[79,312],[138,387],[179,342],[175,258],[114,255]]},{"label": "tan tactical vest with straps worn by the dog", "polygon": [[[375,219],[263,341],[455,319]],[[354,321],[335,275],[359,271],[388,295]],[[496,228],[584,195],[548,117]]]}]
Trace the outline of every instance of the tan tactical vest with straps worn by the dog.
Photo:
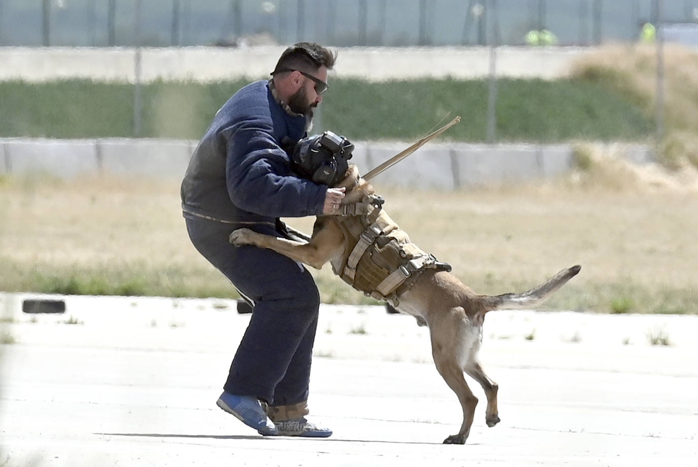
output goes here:
[{"label": "tan tactical vest with straps worn by the dog", "polygon": [[412,288],[424,269],[450,271],[451,266],[419,249],[403,230],[391,230],[394,224],[380,216],[382,205],[383,198],[369,195],[342,207],[336,220],[350,254],[341,270],[333,266],[333,271],[364,295],[398,306],[399,296]]}]

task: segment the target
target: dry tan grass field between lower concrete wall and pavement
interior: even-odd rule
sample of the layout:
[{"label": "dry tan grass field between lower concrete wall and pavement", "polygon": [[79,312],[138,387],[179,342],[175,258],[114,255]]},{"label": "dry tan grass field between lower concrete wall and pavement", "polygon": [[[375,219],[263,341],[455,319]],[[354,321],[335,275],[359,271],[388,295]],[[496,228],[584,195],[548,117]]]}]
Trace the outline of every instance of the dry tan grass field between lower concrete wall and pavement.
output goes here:
[{"label": "dry tan grass field between lower concrete wall and pavement", "polygon": [[[377,188],[413,241],[477,292],[528,288],[579,263],[581,274],[550,307],[613,311],[624,302],[632,304],[628,313],[697,313],[698,177],[591,160],[586,172],[536,186]],[[189,243],[178,188],[133,179],[0,183],[0,290],[36,290],[37,277],[98,274],[111,283],[141,278],[158,295],[232,294]],[[287,221],[309,232],[313,219]],[[315,276],[325,302],[367,300],[329,266]]]}]

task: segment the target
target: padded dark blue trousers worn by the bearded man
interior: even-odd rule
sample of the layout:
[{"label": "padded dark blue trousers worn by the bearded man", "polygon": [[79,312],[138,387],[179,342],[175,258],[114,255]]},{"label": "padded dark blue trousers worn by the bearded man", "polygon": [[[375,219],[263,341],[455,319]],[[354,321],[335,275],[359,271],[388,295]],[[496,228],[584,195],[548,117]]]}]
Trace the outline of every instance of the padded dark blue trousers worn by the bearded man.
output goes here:
[{"label": "padded dark blue trousers worn by the bearded man", "polygon": [[[223,389],[271,406],[307,401],[320,308],[311,274],[272,250],[230,244],[235,225],[186,218],[186,228],[199,253],[255,302]],[[280,235],[271,226],[254,230]]]}]

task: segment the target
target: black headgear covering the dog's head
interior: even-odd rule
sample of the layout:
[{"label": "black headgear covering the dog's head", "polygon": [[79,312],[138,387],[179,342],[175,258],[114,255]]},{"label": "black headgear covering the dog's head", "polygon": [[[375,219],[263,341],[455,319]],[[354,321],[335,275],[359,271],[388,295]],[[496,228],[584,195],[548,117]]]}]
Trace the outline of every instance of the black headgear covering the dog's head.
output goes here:
[{"label": "black headgear covering the dog's head", "polygon": [[353,150],[354,144],[349,140],[325,131],[297,142],[291,158],[302,177],[316,184],[334,186],[344,178]]}]

